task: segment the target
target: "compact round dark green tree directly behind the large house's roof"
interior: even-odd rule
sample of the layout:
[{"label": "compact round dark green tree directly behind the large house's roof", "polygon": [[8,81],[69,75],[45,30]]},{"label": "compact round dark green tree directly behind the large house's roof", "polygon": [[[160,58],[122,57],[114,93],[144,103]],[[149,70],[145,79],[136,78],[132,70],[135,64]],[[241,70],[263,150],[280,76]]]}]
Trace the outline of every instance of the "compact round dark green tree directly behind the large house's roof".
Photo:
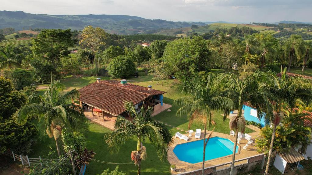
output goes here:
[{"label": "compact round dark green tree directly behind the large house's roof", "polygon": [[107,70],[113,78],[127,78],[134,75],[135,65],[127,56],[119,55],[110,62]]}]

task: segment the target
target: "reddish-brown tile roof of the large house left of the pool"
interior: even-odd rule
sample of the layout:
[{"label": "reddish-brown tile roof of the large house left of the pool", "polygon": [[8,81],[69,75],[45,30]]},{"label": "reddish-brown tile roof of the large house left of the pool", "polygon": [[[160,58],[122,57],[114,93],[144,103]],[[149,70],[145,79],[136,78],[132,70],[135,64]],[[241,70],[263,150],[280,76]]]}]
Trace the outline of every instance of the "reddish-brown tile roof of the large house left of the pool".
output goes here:
[{"label": "reddish-brown tile roof of the large house left of the pool", "polygon": [[166,93],[155,89],[148,90],[148,87],[130,83],[122,85],[120,81],[117,80],[105,80],[100,83],[91,83],[78,91],[80,92],[79,101],[115,116],[125,111],[124,101],[137,104],[149,96]]}]

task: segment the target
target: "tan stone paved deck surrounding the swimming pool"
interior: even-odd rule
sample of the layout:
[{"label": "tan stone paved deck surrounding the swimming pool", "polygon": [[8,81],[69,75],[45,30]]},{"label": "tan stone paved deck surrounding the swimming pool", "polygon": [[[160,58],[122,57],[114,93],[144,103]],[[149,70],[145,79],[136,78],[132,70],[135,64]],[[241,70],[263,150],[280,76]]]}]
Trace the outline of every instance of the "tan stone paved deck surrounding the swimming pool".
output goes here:
[{"label": "tan stone paved deck surrounding the swimming pool", "polygon": [[[207,136],[210,134],[211,131],[207,131],[206,133],[206,138]],[[250,133],[249,135],[251,135],[252,140],[255,140],[255,138],[260,134],[260,131],[256,131],[253,133]],[[188,134],[184,134],[186,136],[188,136]],[[180,161],[176,155],[173,153],[173,149],[177,144],[182,144],[182,143],[187,143],[187,142],[192,142],[192,141],[196,141],[196,140],[202,140],[203,139],[203,135],[204,135],[204,131],[202,130],[202,134],[201,134],[201,138],[200,139],[195,139],[194,138],[194,133],[192,134],[192,137],[189,137],[188,141],[185,140],[180,140],[179,138],[174,138],[174,144],[171,145],[169,147],[169,152],[168,152],[168,161],[171,165],[175,164],[176,165],[176,171],[172,172],[172,174],[179,174],[179,173],[183,173],[183,172],[188,172],[188,171],[192,171],[192,170],[197,170],[197,169],[201,169],[202,168],[202,162],[199,163],[187,163],[187,162],[183,162]],[[230,139],[232,142],[234,142],[234,137],[230,137],[230,135],[228,134],[223,134],[223,133],[218,133],[218,132],[213,132],[212,133],[212,137],[222,137],[225,139]],[[255,143],[251,144],[248,146],[247,151],[243,150],[243,146],[245,144],[247,144],[247,140],[246,139],[242,139],[241,141],[239,141],[240,144],[238,145],[238,152],[236,153],[235,159],[242,159],[242,158],[247,158],[253,155],[258,155],[259,153],[256,151],[256,147],[255,147]],[[213,151],[213,150],[211,150]],[[207,153],[207,152],[206,152]],[[227,163],[227,162],[231,162],[232,161],[232,154],[225,156],[225,157],[221,157],[221,158],[216,158],[216,159],[212,159],[212,160],[207,160],[205,161],[205,167],[209,167],[209,166],[214,166],[214,165],[219,165],[222,163]],[[235,163],[235,165],[239,165],[241,163],[246,163],[247,160],[245,161],[241,161],[241,162],[237,162]],[[218,169],[223,169],[223,168],[227,168],[229,167],[229,165],[223,166],[223,167],[218,167]]]}]

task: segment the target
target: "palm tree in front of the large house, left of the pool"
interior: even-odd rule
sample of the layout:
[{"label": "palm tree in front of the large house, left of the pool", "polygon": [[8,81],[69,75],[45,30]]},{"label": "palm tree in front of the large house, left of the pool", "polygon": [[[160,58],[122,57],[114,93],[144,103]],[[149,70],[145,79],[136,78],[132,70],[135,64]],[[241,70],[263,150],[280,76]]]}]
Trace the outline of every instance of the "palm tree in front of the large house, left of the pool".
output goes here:
[{"label": "palm tree in front of the large house, left of the pool", "polygon": [[112,153],[118,152],[120,145],[137,138],[137,149],[132,151],[131,159],[134,165],[138,166],[138,175],[141,174],[141,161],[146,159],[146,148],[142,141],[148,139],[156,148],[160,160],[167,159],[168,145],[173,143],[172,135],[162,123],[152,120],[153,108],[144,109],[141,107],[140,112],[135,110],[132,102],[124,102],[124,106],[129,116],[132,116],[132,121],[118,116],[114,131],[105,135],[106,144]]}]

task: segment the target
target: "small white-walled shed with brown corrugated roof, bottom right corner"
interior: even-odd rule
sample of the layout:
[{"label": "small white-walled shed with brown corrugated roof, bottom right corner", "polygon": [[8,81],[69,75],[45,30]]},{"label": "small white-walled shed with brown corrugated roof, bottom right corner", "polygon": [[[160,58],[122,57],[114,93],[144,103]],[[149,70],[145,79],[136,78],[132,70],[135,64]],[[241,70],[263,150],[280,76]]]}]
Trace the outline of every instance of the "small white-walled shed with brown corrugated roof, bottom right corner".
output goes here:
[{"label": "small white-walled shed with brown corrugated roof, bottom right corner", "polygon": [[300,160],[304,159],[305,157],[295,149],[291,148],[289,152],[279,152],[276,154],[274,166],[280,171],[280,173],[284,174],[287,163],[296,163],[298,168]]}]

